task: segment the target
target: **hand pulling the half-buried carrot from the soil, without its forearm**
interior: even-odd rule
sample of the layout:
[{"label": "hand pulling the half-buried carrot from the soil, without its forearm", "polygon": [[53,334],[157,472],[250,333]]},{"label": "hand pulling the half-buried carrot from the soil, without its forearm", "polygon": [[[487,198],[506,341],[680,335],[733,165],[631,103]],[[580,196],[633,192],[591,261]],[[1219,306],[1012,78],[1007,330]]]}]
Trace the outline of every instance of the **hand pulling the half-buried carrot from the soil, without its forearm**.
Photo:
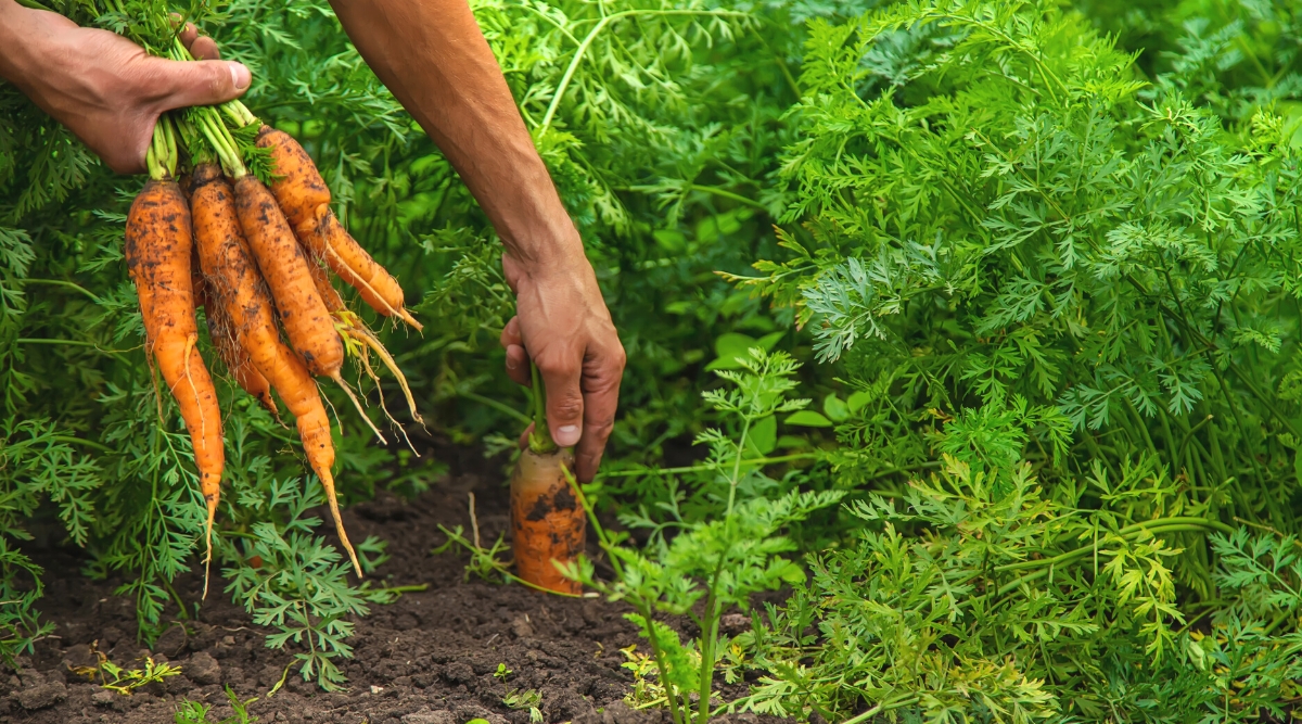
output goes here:
[{"label": "hand pulling the half-buried carrot from the soil, without its forearm", "polygon": [[504,254],[501,266],[517,313],[501,332],[506,374],[529,385],[530,362],[538,366],[552,440],[577,445],[574,475],[586,483],[615,425],[625,362],[592,264],[578,246],[577,255],[529,266]]}]

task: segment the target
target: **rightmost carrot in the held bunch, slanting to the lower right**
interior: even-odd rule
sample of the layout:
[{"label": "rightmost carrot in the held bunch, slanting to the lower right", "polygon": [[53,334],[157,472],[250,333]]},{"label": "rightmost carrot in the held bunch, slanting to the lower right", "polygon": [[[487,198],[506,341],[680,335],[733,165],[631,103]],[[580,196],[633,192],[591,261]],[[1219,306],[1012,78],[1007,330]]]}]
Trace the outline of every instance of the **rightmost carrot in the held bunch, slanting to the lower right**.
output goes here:
[{"label": "rightmost carrot in the held bunch, slanting to the lower right", "polygon": [[355,288],[371,309],[421,329],[411,313],[404,309],[402,286],[357,244],[331,211],[329,188],[307,151],[292,135],[271,126],[262,126],[258,146],[271,150],[277,174],[271,191],[303,246]]}]

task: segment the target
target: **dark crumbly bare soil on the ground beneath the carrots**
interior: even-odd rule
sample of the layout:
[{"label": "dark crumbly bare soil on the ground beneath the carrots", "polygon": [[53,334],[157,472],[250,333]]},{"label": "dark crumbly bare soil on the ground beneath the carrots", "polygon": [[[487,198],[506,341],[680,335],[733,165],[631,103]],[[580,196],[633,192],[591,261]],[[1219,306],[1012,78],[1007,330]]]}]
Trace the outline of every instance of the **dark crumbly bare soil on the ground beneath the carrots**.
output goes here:
[{"label": "dark crumbly bare soil on the ground beneath the carrots", "polygon": [[[117,581],[81,576],[83,560],[73,552],[47,552],[42,602],[55,635],[20,658],[17,671],[0,667],[0,723],[145,724],[172,721],[185,699],[214,706],[211,721],[229,716],[225,686],[247,699],[260,723],[527,724],[529,710],[503,703],[505,688],[536,690],[546,721],[575,724],[661,724],[667,712],[633,711],[622,702],[633,676],[621,668],[620,648],[638,643],[624,608],[598,599],[566,599],[522,586],[464,581],[465,559],[431,556],[443,543],[437,525],[470,530],[467,494],[474,492],[480,534],[491,543],[509,529],[508,488],[500,461],[475,451],[435,452],[449,473],[414,501],[383,492],[354,505],[344,517],[357,540],[379,535],[389,542],[375,585],[428,589],[404,594],[389,606],[374,606],[349,639],[355,655],[341,665],[346,690],[324,693],[290,673],[273,697],[290,654],[264,646],[264,632],[219,590],[210,592],[197,619],[177,621],[154,645],[137,639],[129,599],[115,596]],[[324,514],[326,512],[322,510]],[[197,600],[202,581],[181,581],[181,594]],[[181,667],[182,675],[120,695],[87,682],[73,668],[94,663],[98,642],[113,663],[138,668],[146,655]],[[514,673],[504,684],[499,664]],[[737,715],[734,721],[756,721]],[[767,719],[767,717],[766,717]]]}]

